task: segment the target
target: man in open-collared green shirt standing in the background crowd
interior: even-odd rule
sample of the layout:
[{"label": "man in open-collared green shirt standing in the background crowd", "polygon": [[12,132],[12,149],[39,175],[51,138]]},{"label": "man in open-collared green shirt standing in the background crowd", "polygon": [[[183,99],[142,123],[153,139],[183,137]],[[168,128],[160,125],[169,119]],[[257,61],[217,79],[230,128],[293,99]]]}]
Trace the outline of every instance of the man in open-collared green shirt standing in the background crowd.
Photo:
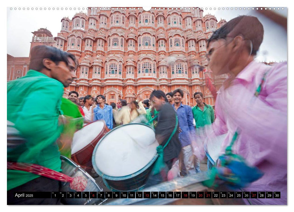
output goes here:
[{"label": "man in open-collared green shirt standing in the background crowd", "polygon": [[214,121],[214,111],[211,105],[205,104],[203,94],[196,92],[194,99],[197,105],[192,108],[193,116],[196,122],[196,128],[204,127],[206,124],[212,124]]}]

